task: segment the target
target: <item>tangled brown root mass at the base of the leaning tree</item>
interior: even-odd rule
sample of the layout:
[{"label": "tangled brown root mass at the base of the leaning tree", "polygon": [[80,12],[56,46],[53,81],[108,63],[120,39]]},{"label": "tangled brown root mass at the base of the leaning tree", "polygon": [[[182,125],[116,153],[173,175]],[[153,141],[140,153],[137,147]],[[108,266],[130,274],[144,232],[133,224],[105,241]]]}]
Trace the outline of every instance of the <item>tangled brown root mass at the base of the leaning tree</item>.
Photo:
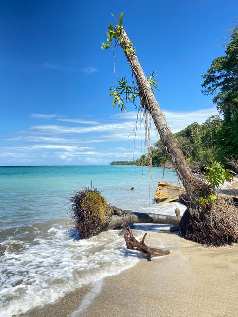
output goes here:
[{"label": "tangled brown root mass at the base of the leaning tree", "polygon": [[180,221],[180,236],[201,244],[222,246],[238,242],[238,209],[218,198],[210,206],[188,207]]}]

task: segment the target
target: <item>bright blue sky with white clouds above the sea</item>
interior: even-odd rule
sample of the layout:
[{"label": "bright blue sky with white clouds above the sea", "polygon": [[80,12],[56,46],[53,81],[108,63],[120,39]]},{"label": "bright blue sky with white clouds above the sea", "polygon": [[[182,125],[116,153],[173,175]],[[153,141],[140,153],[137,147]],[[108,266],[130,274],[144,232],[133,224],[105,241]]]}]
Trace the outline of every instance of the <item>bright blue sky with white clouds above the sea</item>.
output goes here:
[{"label": "bright blue sky with white clouds above the sea", "polygon": [[[0,2],[0,165],[108,164],[137,158],[136,110],[112,108],[111,50],[102,51],[111,13],[123,25],[173,132],[216,113],[201,75],[224,53],[236,0]],[[116,51],[119,77],[131,72]],[[153,141],[157,135],[153,132]],[[142,125],[142,144],[143,125]]]}]

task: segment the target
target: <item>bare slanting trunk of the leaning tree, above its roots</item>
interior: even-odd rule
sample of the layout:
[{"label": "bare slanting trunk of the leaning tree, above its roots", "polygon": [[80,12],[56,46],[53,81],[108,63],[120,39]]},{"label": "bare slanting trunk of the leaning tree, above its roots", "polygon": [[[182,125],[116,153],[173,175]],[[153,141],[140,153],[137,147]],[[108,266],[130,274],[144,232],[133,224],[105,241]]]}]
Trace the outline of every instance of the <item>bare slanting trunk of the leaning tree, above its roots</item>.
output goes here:
[{"label": "bare slanting trunk of the leaning tree, above its roots", "polygon": [[[118,26],[115,26],[115,29],[117,28]],[[130,42],[124,28],[121,27],[120,45],[124,49],[126,59],[128,60],[129,65],[131,66],[131,69],[135,75],[136,82],[141,93],[141,104],[150,113],[154,124],[159,132],[162,144],[166,152],[168,153],[180,180],[183,183],[186,193],[189,196],[193,196],[194,184],[197,183],[196,177],[190,170],[182,151],[178,147],[177,142],[167,125],[165,117],[154,96],[154,92],[148,82],[148,78],[144,74],[140,62],[136,54],[134,53],[134,49],[131,44],[132,42]]]}]

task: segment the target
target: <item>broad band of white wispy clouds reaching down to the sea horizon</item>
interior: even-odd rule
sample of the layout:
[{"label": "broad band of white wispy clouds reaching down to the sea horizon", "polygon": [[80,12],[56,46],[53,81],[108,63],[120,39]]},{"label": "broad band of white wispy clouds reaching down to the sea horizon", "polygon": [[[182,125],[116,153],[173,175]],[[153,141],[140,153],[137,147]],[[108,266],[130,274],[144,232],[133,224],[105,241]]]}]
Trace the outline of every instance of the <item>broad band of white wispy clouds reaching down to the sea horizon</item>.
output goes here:
[{"label": "broad band of white wispy clouds reaching down to the sea horizon", "polygon": [[[172,132],[195,121],[203,123],[211,114],[217,114],[217,110],[164,111]],[[9,146],[0,149],[0,164],[108,164],[122,158],[132,160],[144,150],[141,149],[144,144],[142,114],[135,135],[137,112],[111,116],[104,124],[59,114],[33,113],[31,116],[44,120],[42,123],[54,120],[53,123],[60,124],[32,125],[8,137],[4,142],[10,143]],[[152,143],[157,140],[158,133],[152,124]]]}]

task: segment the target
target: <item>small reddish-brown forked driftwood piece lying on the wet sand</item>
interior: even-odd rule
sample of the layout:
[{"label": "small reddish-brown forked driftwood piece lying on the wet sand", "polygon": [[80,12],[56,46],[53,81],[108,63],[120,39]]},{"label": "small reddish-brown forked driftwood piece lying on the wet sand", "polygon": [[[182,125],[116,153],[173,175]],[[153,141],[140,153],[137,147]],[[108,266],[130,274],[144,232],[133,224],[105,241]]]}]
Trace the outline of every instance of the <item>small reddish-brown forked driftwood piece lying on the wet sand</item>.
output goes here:
[{"label": "small reddish-brown forked driftwood piece lying on the wet sand", "polygon": [[142,241],[139,242],[133,236],[132,229],[128,226],[126,222],[123,223],[122,226],[127,230],[127,232],[124,233],[124,239],[126,241],[127,249],[139,251],[141,252],[142,256],[147,257],[149,259],[151,259],[151,257],[153,256],[162,256],[170,254],[170,251],[168,250],[150,248],[147,245],[145,245],[145,237],[147,233],[144,234]]}]

